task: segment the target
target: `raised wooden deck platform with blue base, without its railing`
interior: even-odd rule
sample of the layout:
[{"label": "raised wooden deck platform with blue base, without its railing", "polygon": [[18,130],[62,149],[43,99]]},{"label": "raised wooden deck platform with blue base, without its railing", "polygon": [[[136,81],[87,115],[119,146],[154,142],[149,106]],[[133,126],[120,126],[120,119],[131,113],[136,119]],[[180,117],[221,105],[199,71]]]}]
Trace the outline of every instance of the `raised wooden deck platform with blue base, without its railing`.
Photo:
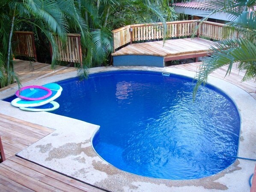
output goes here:
[{"label": "raised wooden deck platform with blue base, without its railing", "polygon": [[[112,53],[113,64],[144,65],[164,67],[164,62],[198,58],[207,56],[210,47],[216,47],[213,41],[203,38],[180,38],[163,41],[152,41],[139,44],[130,44]],[[138,63],[138,59],[140,59]],[[152,59],[154,60],[153,62]]]}]

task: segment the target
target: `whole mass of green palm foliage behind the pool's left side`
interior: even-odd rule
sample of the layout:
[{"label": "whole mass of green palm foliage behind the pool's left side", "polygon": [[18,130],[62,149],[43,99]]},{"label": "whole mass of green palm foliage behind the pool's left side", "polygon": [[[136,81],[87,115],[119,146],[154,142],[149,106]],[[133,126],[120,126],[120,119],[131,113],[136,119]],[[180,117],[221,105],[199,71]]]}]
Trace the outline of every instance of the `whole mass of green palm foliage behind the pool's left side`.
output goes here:
[{"label": "whole mass of green palm foliage behind the pool's left side", "polygon": [[[137,22],[165,22],[174,14],[168,0],[2,0],[0,5],[0,86],[19,83],[13,71],[12,34],[30,28],[39,41],[53,48],[52,67],[56,65],[58,47],[54,34],[63,42],[68,32],[81,34],[83,65],[87,68],[109,64],[113,51],[111,30]],[[43,34],[43,35],[42,35]]]}]

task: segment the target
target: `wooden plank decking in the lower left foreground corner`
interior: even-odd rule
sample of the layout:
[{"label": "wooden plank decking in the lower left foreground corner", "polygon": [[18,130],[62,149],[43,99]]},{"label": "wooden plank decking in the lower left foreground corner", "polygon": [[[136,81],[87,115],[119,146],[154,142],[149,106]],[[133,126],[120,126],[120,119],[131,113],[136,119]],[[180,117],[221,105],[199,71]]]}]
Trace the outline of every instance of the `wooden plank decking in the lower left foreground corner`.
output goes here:
[{"label": "wooden plank decking in the lower left foreground corner", "polygon": [[53,131],[48,127],[0,114],[0,135],[7,158],[0,164],[0,191],[103,191],[15,156],[22,149]]}]

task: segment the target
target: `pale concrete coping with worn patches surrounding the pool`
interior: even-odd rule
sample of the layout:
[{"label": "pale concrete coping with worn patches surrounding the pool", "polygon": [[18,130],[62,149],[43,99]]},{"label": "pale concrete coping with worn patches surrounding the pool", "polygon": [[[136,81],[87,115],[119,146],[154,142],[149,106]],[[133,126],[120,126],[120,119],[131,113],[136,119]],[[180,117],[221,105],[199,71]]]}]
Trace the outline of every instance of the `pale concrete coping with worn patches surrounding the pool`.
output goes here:
[{"label": "pale concrete coping with worn patches surrounding the pool", "polygon": [[[194,77],[195,73],[176,68],[156,67],[101,67],[92,68],[90,73],[115,70],[159,71]],[[57,82],[76,77],[70,72],[54,77],[34,81],[36,85]],[[237,86],[215,77],[209,77],[208,83],[217,86],[229,95],[238,107],[241,116],[241,133],[238,156],[256,159],[256,100]],[[27,86],[25,83],[23,86]],[[0,99],[14,95],[17,89],[9,89],[0,93]],[[161,180],[141,177],[121,171],[102,160],[91,147],[91,137],[98,130],[98,125],[89,124],[72,118],[47,112],[24,112],[0,101],[0,113],[40,124],[55,131],[30,147],[18,153],[39,165],[77,178],[86,183],[109,191],[250,191],[249,178],[254,171],[255,162],[236,160],[229,168],[210,177],[196,180]]]}]

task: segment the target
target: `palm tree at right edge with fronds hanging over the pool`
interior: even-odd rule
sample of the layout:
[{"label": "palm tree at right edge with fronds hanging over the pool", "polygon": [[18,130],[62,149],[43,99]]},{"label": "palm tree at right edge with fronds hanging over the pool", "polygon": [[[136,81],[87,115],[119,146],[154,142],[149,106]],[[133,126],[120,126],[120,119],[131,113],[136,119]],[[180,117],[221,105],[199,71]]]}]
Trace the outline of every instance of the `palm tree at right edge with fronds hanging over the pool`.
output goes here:
[{"label": "palm tree at right edge with fronds hanging over the pool", "polygon": [[[208,75],[217,68],[229,65],[226,75],[230,74],[232,65],[237,63],[239,70],[245,70],[242,81],[256,78],[256,0],[206,0],[202,7],[216,12],[231,14],[232,21],[223,27],[223,38],[226,40],[211,48],[212,55],[202,62],[196,74],[194,97],[199,86],[205,84]],[[206,20],[206,17],[203,20]]]}]

